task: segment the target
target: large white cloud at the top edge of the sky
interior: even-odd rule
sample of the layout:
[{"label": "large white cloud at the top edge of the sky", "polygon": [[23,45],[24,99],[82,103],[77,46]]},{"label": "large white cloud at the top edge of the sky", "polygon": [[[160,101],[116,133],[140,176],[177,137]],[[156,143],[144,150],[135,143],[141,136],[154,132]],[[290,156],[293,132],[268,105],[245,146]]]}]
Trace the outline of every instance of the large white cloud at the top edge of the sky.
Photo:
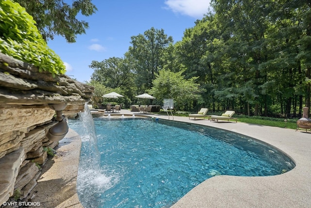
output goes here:
[{"label": "large white cloud at the top edge of the sky", "polygon": [[208,12],[210,0],[165,0],[164,3],[174,13],[200,19]]}]

